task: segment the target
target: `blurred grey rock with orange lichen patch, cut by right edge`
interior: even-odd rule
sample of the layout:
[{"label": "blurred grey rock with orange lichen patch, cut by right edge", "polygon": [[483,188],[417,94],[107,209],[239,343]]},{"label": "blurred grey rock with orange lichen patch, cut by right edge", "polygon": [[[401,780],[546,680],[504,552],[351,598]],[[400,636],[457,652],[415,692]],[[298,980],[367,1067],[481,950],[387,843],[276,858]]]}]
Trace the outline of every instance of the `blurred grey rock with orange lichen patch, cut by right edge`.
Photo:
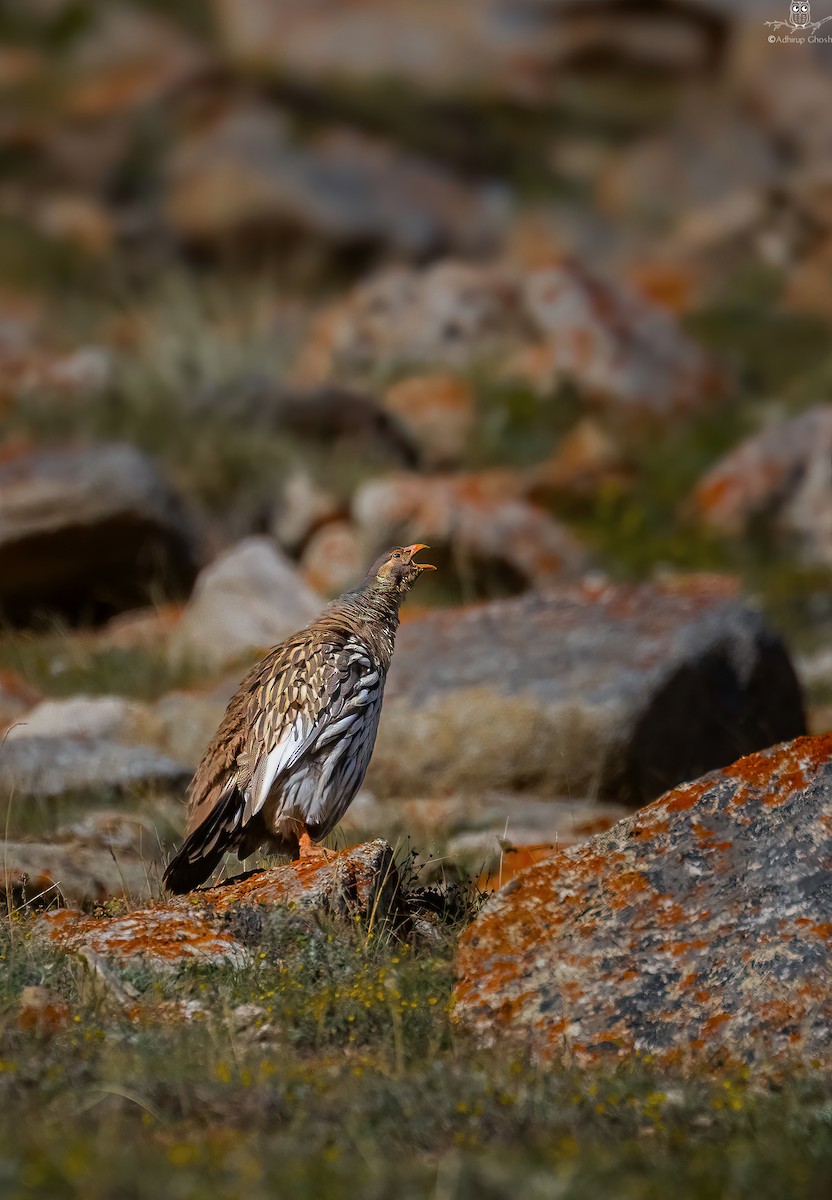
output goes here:
[{"label": "blurred grey rock with orange lichen patch, cut by right edge", "polygon": [[699,482],[692,510],[714,533],[767,526],[810,563],[832,563],[832,404],[756,433]]}]

